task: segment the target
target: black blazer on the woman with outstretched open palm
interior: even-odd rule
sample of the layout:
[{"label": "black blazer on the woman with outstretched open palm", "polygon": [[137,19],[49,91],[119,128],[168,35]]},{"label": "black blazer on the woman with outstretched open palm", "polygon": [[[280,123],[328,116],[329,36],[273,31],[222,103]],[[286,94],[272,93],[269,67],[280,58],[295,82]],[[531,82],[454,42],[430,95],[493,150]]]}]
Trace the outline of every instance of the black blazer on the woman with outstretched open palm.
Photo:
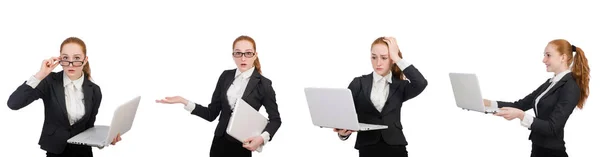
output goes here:
[{"label": "black blazer on the woman with outstretched open palm", "polygon": [[[217,87],[213,92],[212,101],[208,104],[208,107],[196,104],[196,108],[192,111],[192,114],[200,116],[207,121],[214,121],[219,114],[219,124],[215,130],[215,136],[223,136],[227,125],[229,124],[229,118],[231,117],[231,107],[227,100],[227,89],[233,83],[235,77],[235,69],[225,70],[219,77]],[[271,80],[262,76],[255,69],[250,76],[248,85],[242,95],[242,99],[246,101],[257,111],[261,106],[264,106],[267,114],[269,114],[269,123],[265,127],[264,131],[269,132],[270,140],[273,140],[273,136],[281,126],[281,118],[279,117],[279,111],[277,109],[277,102],[275,101],[275,91],[271,86]],[[230,139],[234,140],[234,139]]]}]

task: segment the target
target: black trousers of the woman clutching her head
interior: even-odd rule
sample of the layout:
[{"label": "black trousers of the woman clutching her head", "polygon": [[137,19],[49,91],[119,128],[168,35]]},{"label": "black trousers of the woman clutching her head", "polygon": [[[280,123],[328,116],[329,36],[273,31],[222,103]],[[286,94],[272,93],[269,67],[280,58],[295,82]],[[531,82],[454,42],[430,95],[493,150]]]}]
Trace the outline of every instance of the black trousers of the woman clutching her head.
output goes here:
[{"label": "black trousers of the woman clutching her head", "polygon": [[379,140],[374,145],[364,146],[358,149],[359,157],[408,157],[406,146],[388,145],[383,140]]}]

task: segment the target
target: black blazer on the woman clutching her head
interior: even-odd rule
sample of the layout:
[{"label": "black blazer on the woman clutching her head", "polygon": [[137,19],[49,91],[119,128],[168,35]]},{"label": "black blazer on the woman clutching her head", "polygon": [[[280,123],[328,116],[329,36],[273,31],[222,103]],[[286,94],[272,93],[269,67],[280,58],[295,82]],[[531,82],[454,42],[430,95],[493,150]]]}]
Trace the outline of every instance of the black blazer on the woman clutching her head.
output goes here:
[{"label": "black blazer on the woman clutching her head", "polygon": [[392,77],[388,99],[381,112],[371,102],[373,73],[354,78],[348,86],[354,97],[358,121],[388,126],[388,129],[384,130],[358,132],[354,148],[376,144],[381,139],[389,145],[408,144],[400,122],[402,103],[421,94],[427,87],[427,80],[413,65],[408,66],[403,72],[410,82]]}]

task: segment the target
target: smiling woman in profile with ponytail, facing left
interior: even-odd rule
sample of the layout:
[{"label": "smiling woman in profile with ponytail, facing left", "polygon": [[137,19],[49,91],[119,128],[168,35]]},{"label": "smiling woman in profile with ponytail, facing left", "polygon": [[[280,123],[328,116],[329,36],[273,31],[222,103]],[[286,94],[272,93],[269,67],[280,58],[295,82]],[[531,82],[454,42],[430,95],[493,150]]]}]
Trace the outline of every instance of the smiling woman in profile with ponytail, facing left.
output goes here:
[{"label": "smiling woman in profile with ponytail, facing left", "polygon": [[[575,107],[583,108],[589,95],[590,68],[583,50],[563,39],[548,43],[543,62],[554,77],[525,98],[515,102],[484,99],[484,104],[500,108],[495,115],[518,118],[531,130],[532,157],[566,157],[565,124]],[[535,117],[524,112],[529,109],[534,109]]]}]

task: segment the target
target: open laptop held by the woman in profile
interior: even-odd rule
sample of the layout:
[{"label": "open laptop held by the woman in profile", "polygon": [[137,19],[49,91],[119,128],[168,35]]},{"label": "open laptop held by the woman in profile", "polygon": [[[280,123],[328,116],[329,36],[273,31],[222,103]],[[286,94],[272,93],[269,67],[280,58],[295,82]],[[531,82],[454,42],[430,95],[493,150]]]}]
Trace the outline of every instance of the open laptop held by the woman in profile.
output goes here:
[{"label": "open laptop held by the woman in profile", "polygon": [[497,109],[486,109],[477,75],[472,73],[449,73],[456,105],[469,111],[496,113]]}]

